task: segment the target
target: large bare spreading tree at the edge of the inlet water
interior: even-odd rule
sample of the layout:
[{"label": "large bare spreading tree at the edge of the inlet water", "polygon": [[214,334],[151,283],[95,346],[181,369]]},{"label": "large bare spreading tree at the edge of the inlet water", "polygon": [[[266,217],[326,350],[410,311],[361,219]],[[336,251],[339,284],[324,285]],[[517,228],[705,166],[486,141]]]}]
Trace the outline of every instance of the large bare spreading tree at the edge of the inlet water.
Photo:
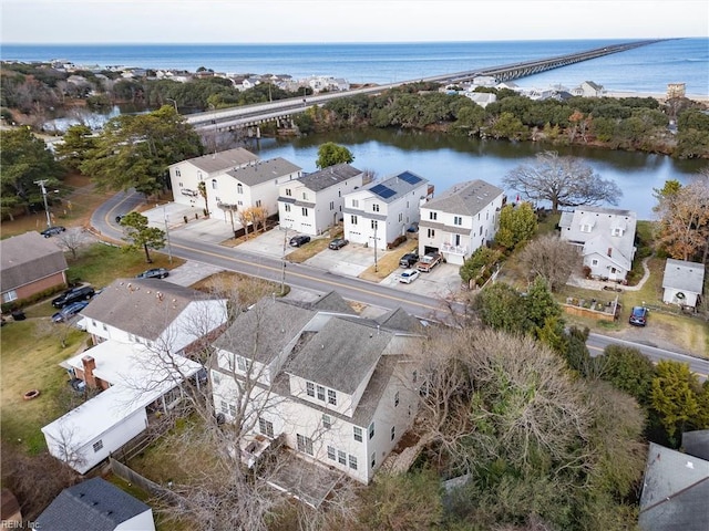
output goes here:
[{"label": "large bare spreading tree at the edge of the inlet water", "polygon": [[549,201],[558,207],[617,205],[623,191],[612,180],[602,179],[590,166],[575,157],[559,157],[556,152],[536,156],[534,165],[521,165],[510,171],[503,183],[533,201]]}]

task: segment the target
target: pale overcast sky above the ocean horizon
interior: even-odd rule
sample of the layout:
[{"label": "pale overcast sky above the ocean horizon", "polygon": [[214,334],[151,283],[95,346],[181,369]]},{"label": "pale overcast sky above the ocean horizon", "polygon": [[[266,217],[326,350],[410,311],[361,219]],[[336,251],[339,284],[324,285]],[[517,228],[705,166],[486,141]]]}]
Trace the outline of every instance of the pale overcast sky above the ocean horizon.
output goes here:
[{"label": "pale overcast sky above the ocean horizon", "polygon": [[709,37],[707,0],[0,0],[2,43]]}]

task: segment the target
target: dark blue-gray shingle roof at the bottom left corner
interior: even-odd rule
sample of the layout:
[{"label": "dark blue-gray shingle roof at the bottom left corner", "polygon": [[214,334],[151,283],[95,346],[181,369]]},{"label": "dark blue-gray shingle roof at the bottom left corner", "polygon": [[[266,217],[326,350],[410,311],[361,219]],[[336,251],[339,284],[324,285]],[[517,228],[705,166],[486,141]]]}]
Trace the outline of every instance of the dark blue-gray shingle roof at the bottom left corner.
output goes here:
[{"label": "dark blue-gray shingle roof at the bottom left corner", "polygon": [[112,531],[151,508],[102,478],[69,487],[37,519],[43,531]]}]

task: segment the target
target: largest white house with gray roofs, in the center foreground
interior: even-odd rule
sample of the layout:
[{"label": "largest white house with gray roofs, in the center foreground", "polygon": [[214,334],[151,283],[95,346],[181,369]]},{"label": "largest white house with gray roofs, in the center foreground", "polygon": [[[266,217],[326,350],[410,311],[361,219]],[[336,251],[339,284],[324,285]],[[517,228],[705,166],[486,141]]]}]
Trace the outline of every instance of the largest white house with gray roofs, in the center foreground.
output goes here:
[{"label": "largest white house with gray roofs, in the center foreground", "polygon": [[[264,299],[240,314],[214,344],[215,409],[232,421],[246,400],[244,425],[261,447],[279,440],[368,483],[417,413],[409,354],[420,348],[420,323],[400,310],[369,320],[330,308]],[[247,464],[251,448],[240,448]]]}]

